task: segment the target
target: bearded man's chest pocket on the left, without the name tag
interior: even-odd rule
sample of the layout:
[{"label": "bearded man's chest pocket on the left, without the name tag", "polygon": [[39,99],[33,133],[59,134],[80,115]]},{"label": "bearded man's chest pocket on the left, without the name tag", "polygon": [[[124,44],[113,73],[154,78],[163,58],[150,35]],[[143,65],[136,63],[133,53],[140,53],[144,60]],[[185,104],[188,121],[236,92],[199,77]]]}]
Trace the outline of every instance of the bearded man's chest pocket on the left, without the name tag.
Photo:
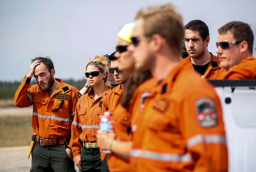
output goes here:
[{"label": "bearded man's chest pocket on the left, without the name tag", "polygon": [[35,96],[33,98],[34,105],[36,106],[37,109],[37,115],[38,115],[38,120],[43,121],[44,120],[44,115],[47,109],[47,99],[43,99],[42,97],[37,97]]}]

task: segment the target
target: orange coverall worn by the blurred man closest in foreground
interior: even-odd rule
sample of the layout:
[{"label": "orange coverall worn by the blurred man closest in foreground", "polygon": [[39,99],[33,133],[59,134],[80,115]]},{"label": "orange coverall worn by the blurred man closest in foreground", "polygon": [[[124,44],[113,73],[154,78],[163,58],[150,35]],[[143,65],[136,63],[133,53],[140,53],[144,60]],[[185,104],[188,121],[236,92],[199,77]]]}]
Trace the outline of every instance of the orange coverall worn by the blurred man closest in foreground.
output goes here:
[{"label": "orange coverall worn by the blurred man closest in foreground", "polygon": [[220,101],[182,63],[151,91],[133,137],[131,171],[227,171]]}]

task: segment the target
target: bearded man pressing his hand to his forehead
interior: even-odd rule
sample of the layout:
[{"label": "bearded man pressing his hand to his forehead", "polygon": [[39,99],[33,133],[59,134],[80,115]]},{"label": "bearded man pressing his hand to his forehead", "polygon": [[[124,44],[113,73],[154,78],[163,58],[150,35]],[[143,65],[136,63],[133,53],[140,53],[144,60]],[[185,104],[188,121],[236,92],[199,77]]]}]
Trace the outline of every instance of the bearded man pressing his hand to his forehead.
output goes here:
[{"label": "bearded man pressing his hand to his forehead", "polygon": [[[29,87],[34,75],[38,85]],[[31,171],[74,171],[71,123],[79,91],[55,78],[49,57],[36,57],[15,93],[14,105],[33,105],[32,128],[36,143],[32,149]],[[66,150],[66,151],[65,151]]]}]

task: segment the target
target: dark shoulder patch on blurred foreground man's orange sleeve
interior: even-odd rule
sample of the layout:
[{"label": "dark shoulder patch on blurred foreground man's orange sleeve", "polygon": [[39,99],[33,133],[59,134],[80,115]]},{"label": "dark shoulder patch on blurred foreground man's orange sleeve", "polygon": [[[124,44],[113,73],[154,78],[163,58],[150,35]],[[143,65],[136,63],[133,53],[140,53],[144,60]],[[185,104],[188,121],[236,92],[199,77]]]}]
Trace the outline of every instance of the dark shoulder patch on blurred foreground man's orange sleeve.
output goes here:
[{"label": "dark shoulder patch on blurred foreground man's orange sleeve", "polygon": [[210,98],[201,98],[196,101],[196,117],[201,127],[214,127],[218,123],[215,102]]}]

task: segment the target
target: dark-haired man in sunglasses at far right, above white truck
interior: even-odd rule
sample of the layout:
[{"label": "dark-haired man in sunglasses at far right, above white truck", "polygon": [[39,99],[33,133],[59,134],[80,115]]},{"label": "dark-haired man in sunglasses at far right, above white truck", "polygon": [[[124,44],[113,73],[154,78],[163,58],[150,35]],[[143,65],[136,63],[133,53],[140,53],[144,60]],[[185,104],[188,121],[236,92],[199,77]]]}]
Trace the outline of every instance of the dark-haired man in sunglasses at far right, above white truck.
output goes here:
[{"label": "dark-haired man in sunglasses at far right, above white truck", "polygon": [[222,79],[256,79],[256,58],[252,56],[253,33],[247,23],[233,21],[220,27],[217,53],[227,70]]}]

